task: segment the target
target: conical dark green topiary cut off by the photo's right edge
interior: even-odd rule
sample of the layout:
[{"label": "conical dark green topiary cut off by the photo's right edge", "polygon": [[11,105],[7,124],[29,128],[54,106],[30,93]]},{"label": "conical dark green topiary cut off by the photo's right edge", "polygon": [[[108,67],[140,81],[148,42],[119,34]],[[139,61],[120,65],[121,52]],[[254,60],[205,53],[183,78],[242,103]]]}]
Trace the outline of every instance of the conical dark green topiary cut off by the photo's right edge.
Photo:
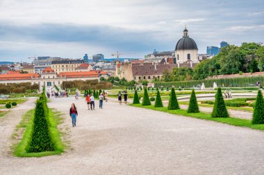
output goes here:
[{"label": "conical dark green topiary cut off by the photo's right edge", "polygon": [[252,124],[264,124],[264,100],[261,90],[258,91],[258,95],[256,97]]}]

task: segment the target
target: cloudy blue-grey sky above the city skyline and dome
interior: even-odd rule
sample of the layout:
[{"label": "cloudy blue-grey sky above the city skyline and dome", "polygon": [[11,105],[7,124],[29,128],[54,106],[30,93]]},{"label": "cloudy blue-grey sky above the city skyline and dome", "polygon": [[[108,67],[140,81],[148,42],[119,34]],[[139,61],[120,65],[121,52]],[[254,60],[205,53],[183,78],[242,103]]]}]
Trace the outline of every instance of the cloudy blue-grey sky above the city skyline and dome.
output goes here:
[{"label": "cloudy blue-grey sky above the city skyline and dome", "polygon": [[0,61],[144,57],[174,50],[185,25],[198,53],[264,42],[263,0],[0,0]]}]

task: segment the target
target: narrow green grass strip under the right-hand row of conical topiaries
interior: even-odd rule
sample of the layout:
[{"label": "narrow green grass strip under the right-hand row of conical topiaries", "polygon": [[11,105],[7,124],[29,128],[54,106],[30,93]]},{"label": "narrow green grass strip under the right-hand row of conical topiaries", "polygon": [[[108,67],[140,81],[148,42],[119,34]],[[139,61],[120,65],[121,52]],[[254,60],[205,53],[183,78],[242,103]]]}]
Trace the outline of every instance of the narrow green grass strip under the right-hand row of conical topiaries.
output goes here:
[{"label": "narrow green grass strip under the right-hand row of conical topiaries", "polygon": [[251,120],[245,120],[245,119],[240,119],[240,118],[212,118],[211,114],[209,114],[209,113],[204,113],[204,112],[187,113],[187,111],[185,111],[183,109],[167,110],[167,107],[155,108],[153,105],[151,105],[151,106],[142,106],[141,104],[129,104],[129,105],[131,105],[133,107],[140,107],[140,108],[144,108],[144,109],[162,111],[165,113],[172,113],[174,115],[179,115],[179,116],[188,116],[191,118],[199,118],[202,120],[212,120],[215,122],[222,122],[224,124],[233,125],[236,127],[247,127],[250,129],[264,130],[264,124],[263,125],[253,125],[253,124],[251,124]]}]

